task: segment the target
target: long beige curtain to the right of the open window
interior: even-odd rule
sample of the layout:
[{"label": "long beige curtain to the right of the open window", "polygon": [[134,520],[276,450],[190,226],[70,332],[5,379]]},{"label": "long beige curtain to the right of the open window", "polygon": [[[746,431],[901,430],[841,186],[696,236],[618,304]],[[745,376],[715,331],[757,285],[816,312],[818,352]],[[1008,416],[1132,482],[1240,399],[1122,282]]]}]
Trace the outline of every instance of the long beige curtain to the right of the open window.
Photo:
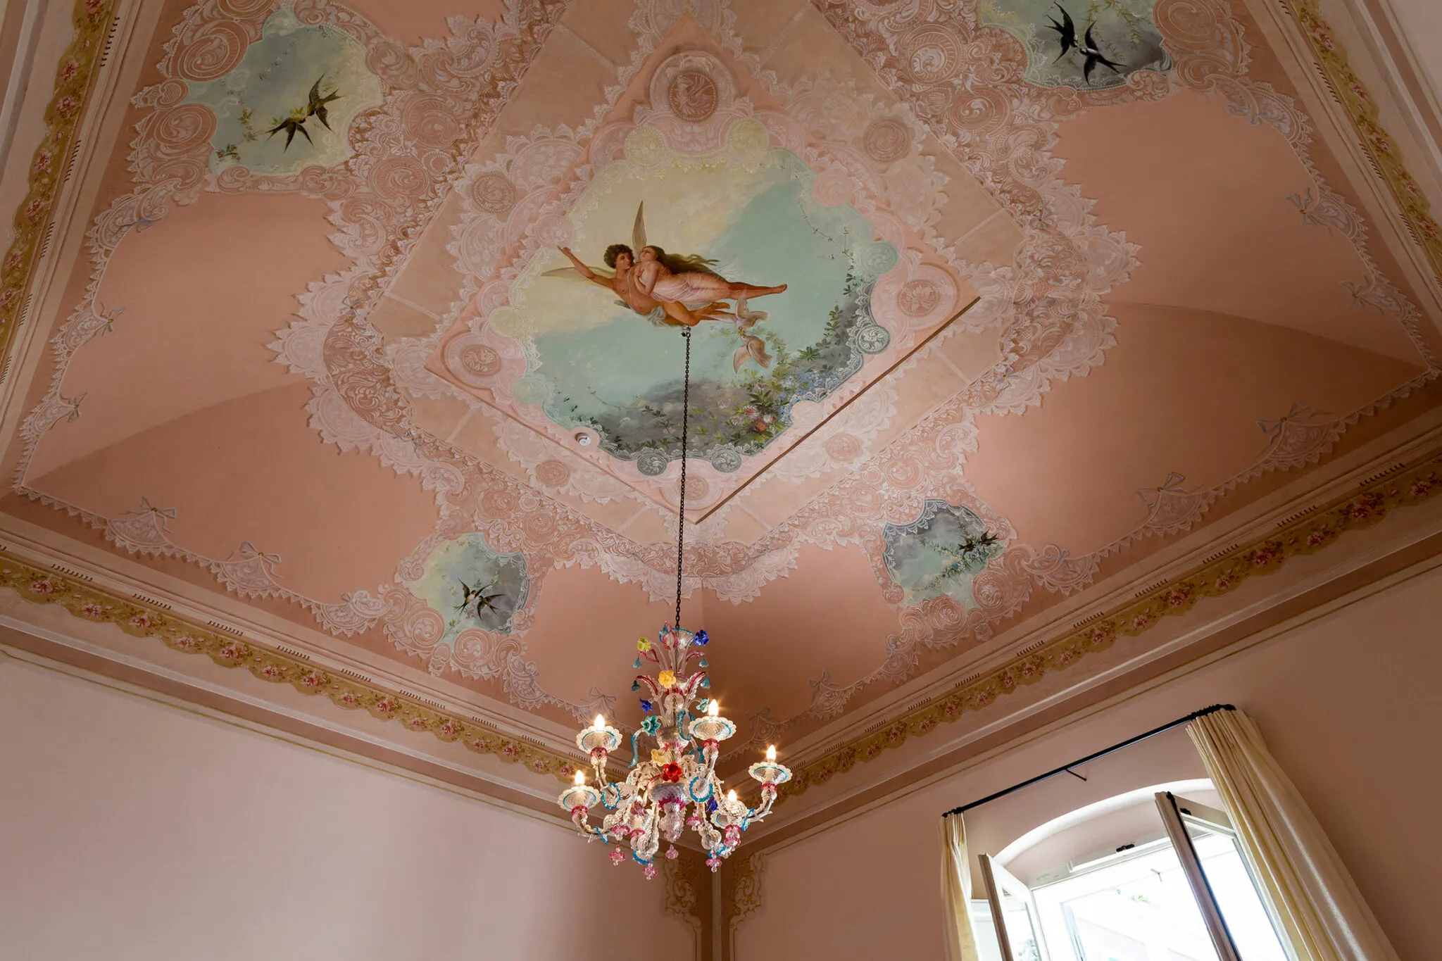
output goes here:
[{"label": "long beige curtain to the right of the open window", "polygon": [[1240,710],[1218,710],[1188,723],[1187,733],[1298,960],[1397,961],[1256,722]]}]

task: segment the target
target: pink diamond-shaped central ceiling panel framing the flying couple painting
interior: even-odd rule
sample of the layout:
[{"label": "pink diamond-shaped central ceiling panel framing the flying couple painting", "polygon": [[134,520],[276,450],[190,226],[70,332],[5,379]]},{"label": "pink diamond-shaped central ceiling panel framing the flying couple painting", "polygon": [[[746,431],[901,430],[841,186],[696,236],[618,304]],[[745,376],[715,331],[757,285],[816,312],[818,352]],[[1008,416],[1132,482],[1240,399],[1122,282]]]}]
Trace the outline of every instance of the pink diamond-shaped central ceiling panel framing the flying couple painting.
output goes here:
[{"label": "pink diamond-shaped central ceiling panel framing the flying couple painting", "polygon": [[[914,350],[959,292],[861,170],[916,151],[903,120],[874,118],[867,144],[885,160],[868,160],[740,97],[702,50],[663,61],[649,104],[623,109],[584,147],[538,134],[516,141],[513,163],[470,171],[456,249],[516,245],[427,369],[559,448],[549,458],[669,510],[681,470],[671,334],[689,328],[698,520]],[[568,186],[515,196],[535,176],[519,157],[532,156]],[[508,455],[534,467],[528,451],[545,444],[508,429]]]}]

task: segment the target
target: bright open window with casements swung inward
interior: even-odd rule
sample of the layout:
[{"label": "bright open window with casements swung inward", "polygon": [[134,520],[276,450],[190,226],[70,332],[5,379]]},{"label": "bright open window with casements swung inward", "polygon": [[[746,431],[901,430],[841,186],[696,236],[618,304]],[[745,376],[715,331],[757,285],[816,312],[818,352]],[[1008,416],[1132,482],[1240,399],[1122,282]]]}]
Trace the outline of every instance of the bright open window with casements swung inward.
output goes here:
[{"label": "bright open window with casements swung inward", "polygon": [[[1040,872],[1030,885],[999,863],[1005,852],[982,854],[996,957],[1288,961],[1226,814],[1169,791],[1155,792],[1149,810],[1138,811],[1148,833]],[[1084,827],[1074,815],[1058,820]],[[988,934],[978,925],[981,939]]]}]

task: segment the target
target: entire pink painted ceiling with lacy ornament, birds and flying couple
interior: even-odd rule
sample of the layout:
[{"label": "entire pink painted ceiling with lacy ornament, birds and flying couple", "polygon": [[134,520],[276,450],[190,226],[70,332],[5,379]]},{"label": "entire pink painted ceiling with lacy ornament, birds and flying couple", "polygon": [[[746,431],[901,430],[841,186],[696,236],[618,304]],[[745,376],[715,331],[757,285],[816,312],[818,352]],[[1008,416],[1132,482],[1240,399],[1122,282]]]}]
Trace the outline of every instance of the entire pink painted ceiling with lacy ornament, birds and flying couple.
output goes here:
[{"label": "entire pink painted ceiling with lacy ornament, birds and flying couple", "polygon": [[746,752],[1438,399],[1438,278],[1240,3],[483,6],[164,9],[7,513],[626,726],[685,457]]}]

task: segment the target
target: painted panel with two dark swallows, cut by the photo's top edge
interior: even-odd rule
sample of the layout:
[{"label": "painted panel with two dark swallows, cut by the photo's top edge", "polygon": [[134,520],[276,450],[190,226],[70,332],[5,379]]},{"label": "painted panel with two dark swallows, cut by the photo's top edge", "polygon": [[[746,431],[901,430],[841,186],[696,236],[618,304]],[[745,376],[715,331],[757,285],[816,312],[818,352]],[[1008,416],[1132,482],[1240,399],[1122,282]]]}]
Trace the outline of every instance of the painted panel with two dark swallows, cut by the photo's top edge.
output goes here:
[{"label": "painted panel with two dark swallows, cut by the photo's top edge", "polygon": [[1155,0],[982,0],[981,20],[1027,46],[1038,86],[1105,89],[1136,71],[1167,72],[1171,58],[1152,23]]}]

